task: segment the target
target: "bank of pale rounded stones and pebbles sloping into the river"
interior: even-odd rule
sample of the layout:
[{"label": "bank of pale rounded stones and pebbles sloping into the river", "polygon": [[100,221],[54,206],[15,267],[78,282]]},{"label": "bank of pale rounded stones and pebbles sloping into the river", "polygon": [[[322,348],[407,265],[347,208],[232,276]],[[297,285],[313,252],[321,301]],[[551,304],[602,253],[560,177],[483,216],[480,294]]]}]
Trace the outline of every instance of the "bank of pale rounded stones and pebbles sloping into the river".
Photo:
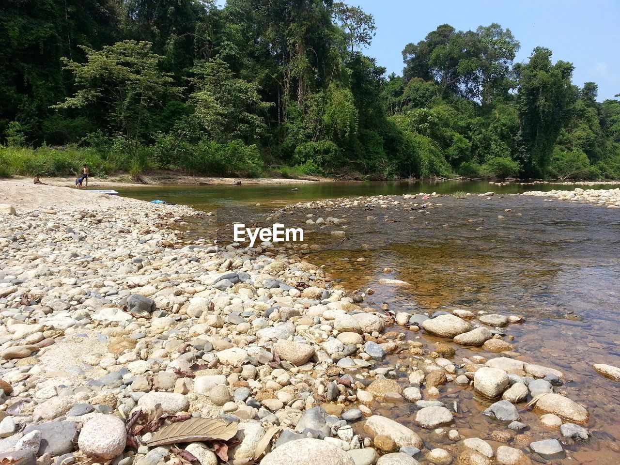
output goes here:
[{"label": "bank of pale rounded stones and pebbles sloping into the river", "polygon": [[[186,243],[187,207],[110,201],[0,213],[0,460],[523,465],[590,438],[567,375],[515,352],[518,315],[370,308],[268,242]],[[360,201],[437,208],[330,205]],[[392,402],[410,427],[381,415]],[[546,432],[520,421],[528,406]],[[467,433],[474,416],[488,438]]]}]

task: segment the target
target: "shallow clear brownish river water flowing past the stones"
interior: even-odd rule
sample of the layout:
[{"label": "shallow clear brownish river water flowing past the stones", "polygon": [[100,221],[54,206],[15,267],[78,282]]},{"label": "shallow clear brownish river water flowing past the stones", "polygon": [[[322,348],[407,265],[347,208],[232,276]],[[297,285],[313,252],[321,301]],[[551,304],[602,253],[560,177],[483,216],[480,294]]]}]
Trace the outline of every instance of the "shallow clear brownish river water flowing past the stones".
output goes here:
[{"label": "shallow clear brownish river water flowing past the stones", "polygon": [[[562,371],[566,381],[559,391],[590,412],[586,425],[592,435],[589,443],[567,446],[566,456],[547,463],[620,464],[620,446],[616,445],[620,441],[620,384],[591,368],[593,363],[620,366],[618,210],[520,195],[472,195],[464,199],[436,196],[428,199],[433,203],[429,208],[414,210],[366,206],[363,201],[347,208],[337,203],[291,207],[300,201],[358,195],[489,190],[499,194],[556,186],[393,182],[297,187],[297,192],[291,192],[290,185],[147,187],[120,193],[144,200],[187,203],[216,213],[190,224],[193,237],[218,232],[223,240],[230,232],[231,221],[263,223],[267,215],[287,227],[301,226],[306,230],[305,242],[315,250],[291,244],[290,253],[303,254],[305,260],[324,266],[348,291],[372,288],[374,293],[366,304],[373,308],[387,303],[396,312],[461,308],[522,315],[526,322],[510,325],[507,330],[514,337],[513,356]],[[609,187],[615,186],[605,186]],[[347,234],[344,238],[331,234],[342,226],[307,225],[306,215],[346,219]],[[381,278],[410,285],[379,285]],[[417,332],[407,332],[407,337],[423,342],[428,352],[438,340]],[[455,348],[453,361],[472,355],[496,356],[481,348]],[[399,356],[386,360],[392,366],[403,362]],[[453,387],[442,389],[441,400],[458,402],[461,415],[456,418],[456,427],[461,435],[483,438],[494,448],[502,445],[492,432],[505,431],[505,427],[482,415],[489,404],[475,399],[471,388]],[[518,407],[522,410],[523,404]],[[373,410],[413,425],[415,410],[408,402],[388,402]],[[559,431],[538,422],[539,415],[525,410],[520,413],[529,429],[511,440],[511,446],[526,450],[531,441],[560,437]],[[428,444],[441,441],[431,433],[421,435]]]}]

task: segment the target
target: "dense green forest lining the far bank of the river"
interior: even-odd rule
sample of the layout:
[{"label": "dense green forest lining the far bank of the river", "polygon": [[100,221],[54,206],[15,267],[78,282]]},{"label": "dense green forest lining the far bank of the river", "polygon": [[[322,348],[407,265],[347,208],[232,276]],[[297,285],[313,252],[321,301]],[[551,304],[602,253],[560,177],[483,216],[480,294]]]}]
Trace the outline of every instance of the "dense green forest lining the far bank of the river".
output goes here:
[{"label": "dense green forest lining the far bank of the river", "polygon": [[4,0],[0,175],[620,178],[620,100],[548,48],[444,24],[386,76],[375,32],[331,0]]}]

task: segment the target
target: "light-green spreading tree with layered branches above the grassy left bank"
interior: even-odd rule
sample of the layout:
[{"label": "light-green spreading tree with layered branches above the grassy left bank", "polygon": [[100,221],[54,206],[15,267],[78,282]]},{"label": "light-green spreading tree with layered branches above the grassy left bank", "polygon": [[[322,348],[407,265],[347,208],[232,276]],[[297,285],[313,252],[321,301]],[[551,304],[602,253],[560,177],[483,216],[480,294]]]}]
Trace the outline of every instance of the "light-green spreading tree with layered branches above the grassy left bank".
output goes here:
[{"label": "light-green spreading tree with layered branches above the grassy left bank", "polygon": [[71,71],[76,92],[53,108],[99,107],[110,127],[125,136],[131,153],[136,154],[143,138],[150,136],[149,124],[167,97],[177,97],[169,73],[159,69],[161,56],[151,51],[151,43],[125,40],[95,51],[82,47],[86,63],[64,58]]}]

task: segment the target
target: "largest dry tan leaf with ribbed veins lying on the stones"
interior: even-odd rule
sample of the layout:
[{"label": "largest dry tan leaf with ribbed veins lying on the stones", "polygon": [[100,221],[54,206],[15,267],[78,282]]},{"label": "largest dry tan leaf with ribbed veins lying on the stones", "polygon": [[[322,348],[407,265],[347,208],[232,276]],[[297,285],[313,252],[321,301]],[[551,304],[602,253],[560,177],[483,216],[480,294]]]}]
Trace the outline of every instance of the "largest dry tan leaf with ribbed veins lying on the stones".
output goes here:
[{"label": "largest dry tan leaf with ribbed veins lying on the stones", "polygon": [[237,434],[239,423],[228,423],[213,418],[190,418],[161,428],[146,443],[149,447],[194,441],[228,441]]}]

